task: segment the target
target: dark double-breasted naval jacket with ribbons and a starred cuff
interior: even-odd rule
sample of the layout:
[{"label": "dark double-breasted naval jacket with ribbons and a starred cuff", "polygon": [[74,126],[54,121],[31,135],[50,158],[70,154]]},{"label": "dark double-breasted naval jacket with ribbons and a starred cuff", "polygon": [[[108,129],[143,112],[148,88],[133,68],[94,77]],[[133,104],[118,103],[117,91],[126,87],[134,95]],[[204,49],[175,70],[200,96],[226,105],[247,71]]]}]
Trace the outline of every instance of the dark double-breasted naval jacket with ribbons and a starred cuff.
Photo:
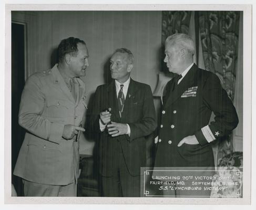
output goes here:
[{"label": "dark double-breasted naval jacket with ribbons and a starred cuff", "polygon": [[[161,126],[155,166],[214,166],[209,141],[229,134],[237,127],[238,116],[219,78],[212,72],[193,65],[171,92],[167,83],[163,100]],[[211,113],[215,121],[209,125]],[[207,126],[208,125],[208,126]],[[196,135],[199,144],[178,143],[188,135]]]}]

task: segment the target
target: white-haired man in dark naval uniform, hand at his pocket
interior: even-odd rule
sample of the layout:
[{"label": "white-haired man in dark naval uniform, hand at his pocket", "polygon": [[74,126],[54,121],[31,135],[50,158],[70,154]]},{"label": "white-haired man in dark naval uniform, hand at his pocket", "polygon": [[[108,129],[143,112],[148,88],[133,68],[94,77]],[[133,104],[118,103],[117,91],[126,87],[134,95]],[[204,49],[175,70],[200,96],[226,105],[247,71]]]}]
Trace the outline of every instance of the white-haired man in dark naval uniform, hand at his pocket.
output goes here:
[{"label": "white-haired man in dark naval uniform, hand at his pocket", "polygon": [[[219,78],[193,64],[193,41],[188,35],[169,36],[165,54],[169,71],[177,76],[167,83],[162,97],[155,167],[200,167],[207,171],[214,167],[210,142],[237,127],[237,112]],[[209,123],[212,112],[215,119]],[[176,192],[179,194],[191,195],[191,191]]]}]

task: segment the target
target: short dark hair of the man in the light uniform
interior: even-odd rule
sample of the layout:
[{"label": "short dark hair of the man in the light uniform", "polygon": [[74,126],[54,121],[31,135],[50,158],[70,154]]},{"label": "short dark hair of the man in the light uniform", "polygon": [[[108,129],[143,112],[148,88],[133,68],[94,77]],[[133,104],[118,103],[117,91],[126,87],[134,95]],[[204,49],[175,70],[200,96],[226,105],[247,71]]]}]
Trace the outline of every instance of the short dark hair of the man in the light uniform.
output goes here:
[{"label": "short dark hair of the man in the light uniform", "polygon": [[78,52],[78,49],[77,49],[78,43],[86,45],[85,41],[78,38],[74,38],[74,37],[69,37],[60,41],[58,46],[59,62],[63,61],[66,54],[71,54],[72,56],[76,56]]}]

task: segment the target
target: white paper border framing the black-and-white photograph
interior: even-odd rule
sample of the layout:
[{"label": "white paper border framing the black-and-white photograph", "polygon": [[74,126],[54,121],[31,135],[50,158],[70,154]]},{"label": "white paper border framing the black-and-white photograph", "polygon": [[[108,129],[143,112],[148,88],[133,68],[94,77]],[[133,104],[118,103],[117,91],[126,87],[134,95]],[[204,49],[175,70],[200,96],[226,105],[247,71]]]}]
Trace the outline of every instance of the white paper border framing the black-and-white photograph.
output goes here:
[{"label": "white paper border framing the black-and-white photograph", "polygon": [[[14,10],[242,10],[243,11],[243,198],[11,197],[11,11]],[[245,204],[251,203],[252,104],[251,5],[33,5],[5,7],[5,169],[6,204]],[[245,85],[246,84],[246,85]]]}]

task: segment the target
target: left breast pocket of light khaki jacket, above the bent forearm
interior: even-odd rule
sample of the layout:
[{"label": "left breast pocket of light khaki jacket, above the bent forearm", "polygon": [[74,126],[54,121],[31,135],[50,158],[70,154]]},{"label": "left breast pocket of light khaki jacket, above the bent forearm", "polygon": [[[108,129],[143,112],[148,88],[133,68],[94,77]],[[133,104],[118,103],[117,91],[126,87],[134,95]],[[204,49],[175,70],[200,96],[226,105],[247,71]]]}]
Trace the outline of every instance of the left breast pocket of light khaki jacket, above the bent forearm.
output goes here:
[{"label": "left breast pocket of light khaki jacket, above the bent forearm", "polygon": [[63,118],[67,117],[70,112],[70,102],[65,99],[47,97],[46,116]]}]

